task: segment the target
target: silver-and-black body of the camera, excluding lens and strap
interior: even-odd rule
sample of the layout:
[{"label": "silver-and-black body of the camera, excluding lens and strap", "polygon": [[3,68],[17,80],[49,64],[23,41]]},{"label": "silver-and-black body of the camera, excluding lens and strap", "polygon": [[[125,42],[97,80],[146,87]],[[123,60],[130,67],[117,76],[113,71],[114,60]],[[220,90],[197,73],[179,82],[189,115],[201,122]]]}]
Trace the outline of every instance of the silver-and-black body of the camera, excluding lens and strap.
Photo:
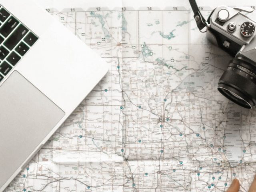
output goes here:
[{"label": "silver-and-black body of the camera, excluding lens and strap", "polygon": [[234,57],[239,54],[256,62],[256,22],[245,15],[253,11],[250,7],[218,6],[208,18],[208,39]]}]

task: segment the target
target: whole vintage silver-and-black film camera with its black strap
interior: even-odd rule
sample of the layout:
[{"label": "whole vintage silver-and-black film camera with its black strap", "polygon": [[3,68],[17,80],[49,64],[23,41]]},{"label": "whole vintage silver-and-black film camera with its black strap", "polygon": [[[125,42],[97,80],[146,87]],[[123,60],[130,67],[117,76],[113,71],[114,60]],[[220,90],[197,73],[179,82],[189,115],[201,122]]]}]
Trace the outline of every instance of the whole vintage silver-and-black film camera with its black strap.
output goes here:
[{"label": "whole vintage silver-and-black film camera with its black strap", "polygon": [[234,59],[218,82],[218,90],[232,102],[251,109],[256,105],[256,22],[250,7],[218,6],[205,20],[195,2],[189,0],[200,31]]}]

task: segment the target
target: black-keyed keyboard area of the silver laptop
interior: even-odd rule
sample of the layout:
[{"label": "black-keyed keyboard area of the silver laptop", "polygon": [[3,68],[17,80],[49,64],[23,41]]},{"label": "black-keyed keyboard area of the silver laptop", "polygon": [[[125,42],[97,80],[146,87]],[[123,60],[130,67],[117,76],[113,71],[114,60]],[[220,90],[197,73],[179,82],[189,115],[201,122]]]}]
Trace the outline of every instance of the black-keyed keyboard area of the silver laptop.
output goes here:
[{"label": "black-keyed keyboard area of the silver laptop", "polygon": [[36,34],[0,6],[0,82],[37,40]]}]

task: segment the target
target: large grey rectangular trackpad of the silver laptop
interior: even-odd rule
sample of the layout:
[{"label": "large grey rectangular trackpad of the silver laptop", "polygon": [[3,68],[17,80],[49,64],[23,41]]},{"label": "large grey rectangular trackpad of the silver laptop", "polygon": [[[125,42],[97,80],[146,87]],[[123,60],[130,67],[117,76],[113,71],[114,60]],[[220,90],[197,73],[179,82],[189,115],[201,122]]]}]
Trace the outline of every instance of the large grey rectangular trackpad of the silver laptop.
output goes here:
[{"label": "large grey rectangular trackpad of the silver laptop", "polygon": [[0,86],[0,188],[64,114],[17,71]]}]

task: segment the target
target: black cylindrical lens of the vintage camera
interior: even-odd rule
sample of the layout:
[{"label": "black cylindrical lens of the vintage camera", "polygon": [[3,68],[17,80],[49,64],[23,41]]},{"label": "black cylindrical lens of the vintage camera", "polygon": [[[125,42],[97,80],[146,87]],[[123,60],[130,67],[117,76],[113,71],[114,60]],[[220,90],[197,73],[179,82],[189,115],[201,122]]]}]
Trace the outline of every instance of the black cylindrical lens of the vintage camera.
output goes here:
[{"label": "black cylindrical lens of the vintage camera", "polygon": [[251,109],[256,104],[256,67],[242,59],[231,60],[218,90],[232,102]]}]

